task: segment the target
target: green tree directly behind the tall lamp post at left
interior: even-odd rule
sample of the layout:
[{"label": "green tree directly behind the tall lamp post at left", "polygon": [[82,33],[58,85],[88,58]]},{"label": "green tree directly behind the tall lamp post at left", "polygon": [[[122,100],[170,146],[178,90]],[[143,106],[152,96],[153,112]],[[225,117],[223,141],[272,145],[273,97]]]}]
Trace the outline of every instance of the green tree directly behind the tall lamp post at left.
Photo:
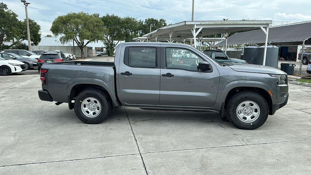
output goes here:
[{"label": "green tree directly behind the tall lamp post at left", "polygon": [[[28,19],[29,21],[29,30],[30,30],[30,40],[31,45],[38,45],[41,41],[41,27],[37,24],[34,20]],[[19,21],[17,25],[17,32],[14,35],[15,41],[12,43],[13,45],[19,45],[22,41],[28,40],[27,36],[27,26],[26,26],[26,19],[24,21]]]}]

